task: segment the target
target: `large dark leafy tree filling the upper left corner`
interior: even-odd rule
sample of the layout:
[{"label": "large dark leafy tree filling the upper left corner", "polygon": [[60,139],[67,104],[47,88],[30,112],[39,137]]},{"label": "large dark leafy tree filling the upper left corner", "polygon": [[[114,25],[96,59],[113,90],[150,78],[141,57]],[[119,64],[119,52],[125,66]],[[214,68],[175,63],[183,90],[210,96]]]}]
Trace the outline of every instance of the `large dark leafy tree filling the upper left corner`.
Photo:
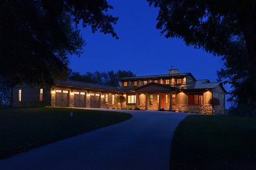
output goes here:
[{"label": "large dark leafy tree filling the upper left corner", "polygon": [[69,75],[69,56],[85,42],[79,24],[117,37],[106,0],[6,0],[0,3],[0,77],[13,84],[54,84]]}]

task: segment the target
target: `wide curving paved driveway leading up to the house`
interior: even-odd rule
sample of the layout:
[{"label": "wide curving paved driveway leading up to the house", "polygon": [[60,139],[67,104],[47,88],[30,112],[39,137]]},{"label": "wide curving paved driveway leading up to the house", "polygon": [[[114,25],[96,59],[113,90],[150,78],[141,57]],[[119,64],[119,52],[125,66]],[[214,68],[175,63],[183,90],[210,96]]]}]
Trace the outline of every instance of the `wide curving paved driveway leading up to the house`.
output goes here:
[{"label": "wide curving paved driveway leading up to the house", "polygon": [[188,114],[118,111],[133,118],[17,154],[0,169],[169,169],[173,133]]}]

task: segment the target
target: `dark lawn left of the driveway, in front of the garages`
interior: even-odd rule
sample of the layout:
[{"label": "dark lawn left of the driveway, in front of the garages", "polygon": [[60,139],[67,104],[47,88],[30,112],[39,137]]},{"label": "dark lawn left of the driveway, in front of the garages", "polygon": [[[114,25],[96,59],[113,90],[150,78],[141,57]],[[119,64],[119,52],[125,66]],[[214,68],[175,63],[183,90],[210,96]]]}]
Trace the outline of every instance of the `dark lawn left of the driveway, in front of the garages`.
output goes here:
[{"label": "dark lawn left of the driveway, in front of the garages", "polygon": [[53,107],[0,109],[0,159],[131,117],[121,112]]}]

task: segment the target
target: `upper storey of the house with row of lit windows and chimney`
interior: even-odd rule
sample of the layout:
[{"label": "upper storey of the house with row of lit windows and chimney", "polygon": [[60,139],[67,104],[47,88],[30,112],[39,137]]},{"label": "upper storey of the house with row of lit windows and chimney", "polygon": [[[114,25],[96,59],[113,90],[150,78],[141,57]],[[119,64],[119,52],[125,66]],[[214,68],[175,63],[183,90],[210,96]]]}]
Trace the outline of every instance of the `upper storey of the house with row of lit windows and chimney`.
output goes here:
[{"label": "upper storey of the house with row of lit windows and chimney", "polygon": [[196,81],[196,78],[191,73],[179,73],[179,69],[169,69],[166,75],[133,76],[119,79],[122,90],[130,90],[149,82],[179,86],[194,81]]}]

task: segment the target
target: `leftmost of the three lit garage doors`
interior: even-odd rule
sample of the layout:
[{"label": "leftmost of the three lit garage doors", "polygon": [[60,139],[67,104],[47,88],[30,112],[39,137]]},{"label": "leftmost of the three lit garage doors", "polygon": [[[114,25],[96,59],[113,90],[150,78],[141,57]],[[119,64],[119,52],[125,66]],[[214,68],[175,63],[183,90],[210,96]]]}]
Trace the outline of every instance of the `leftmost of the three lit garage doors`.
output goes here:
[{"label": "leftmost of the three lit garage doors", "polygon": [[68,90],[56,90],[56,106],[68,107],[70,92]]}]

